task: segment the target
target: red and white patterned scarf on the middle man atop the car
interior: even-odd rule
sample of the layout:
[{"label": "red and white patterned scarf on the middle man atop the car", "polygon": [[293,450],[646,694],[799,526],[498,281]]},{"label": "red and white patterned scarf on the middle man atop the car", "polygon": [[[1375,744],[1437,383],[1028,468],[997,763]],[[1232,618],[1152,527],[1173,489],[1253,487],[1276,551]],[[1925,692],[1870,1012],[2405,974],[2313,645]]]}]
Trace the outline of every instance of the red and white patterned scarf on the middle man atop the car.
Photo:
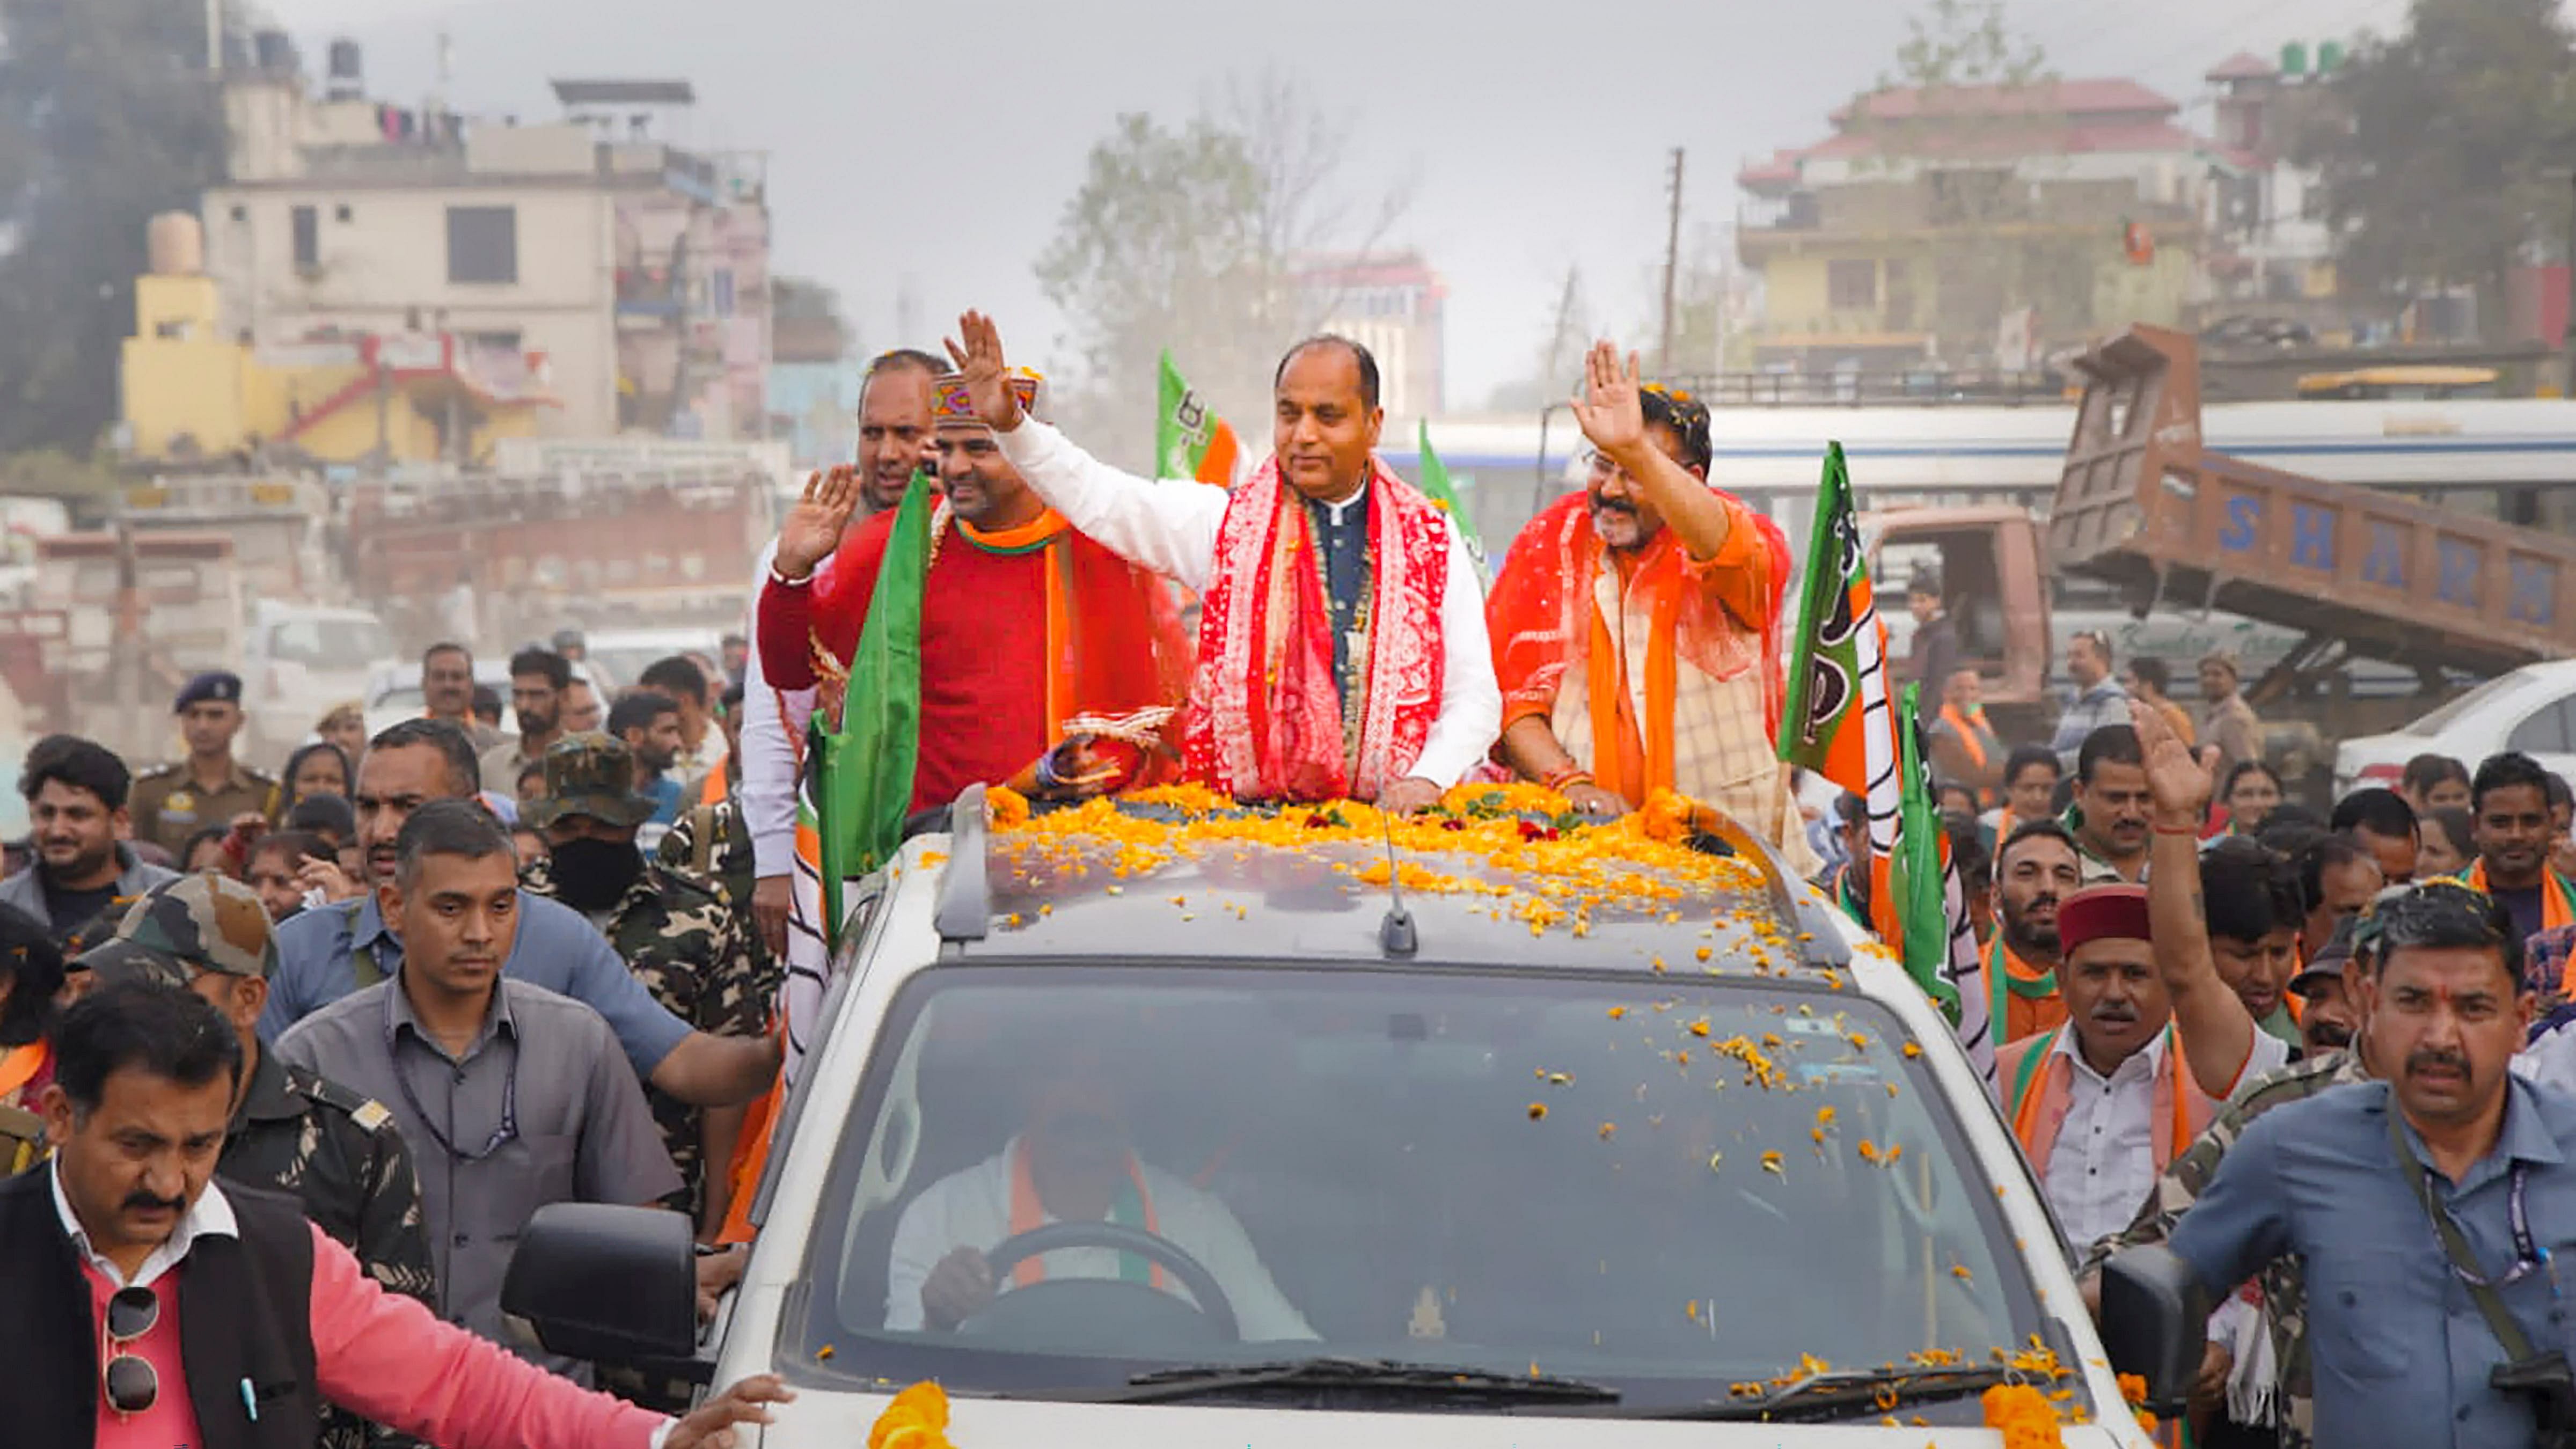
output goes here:
[{"label": "red and white patterned scarf on the middle man atop the car", "polygon": [[1234,490],[1198,619],[1185,771],[1234,799],[1376,799],[1440,717],[1448,518],[1370,459],[1368,603],[1334,686],[1324,559],[1278,459]]}]

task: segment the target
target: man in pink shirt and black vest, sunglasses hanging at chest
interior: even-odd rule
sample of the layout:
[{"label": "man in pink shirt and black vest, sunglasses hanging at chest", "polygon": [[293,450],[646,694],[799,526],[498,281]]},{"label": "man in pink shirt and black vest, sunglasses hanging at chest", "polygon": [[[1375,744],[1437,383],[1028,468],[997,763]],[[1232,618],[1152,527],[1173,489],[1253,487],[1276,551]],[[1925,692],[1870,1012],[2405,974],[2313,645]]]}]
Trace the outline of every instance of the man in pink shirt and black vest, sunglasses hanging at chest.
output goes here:
[{"label": "man in pink shirt and black vest, sunglasses hanging at chest", "polygon": [[304,1449],[325,1403],[456,1449],[726,1449],[788,1390],[672,1421],[386,1294],[294,1199],[214,1183],[242,1047],[198,995],[111,985],[67,1011],[54,1158],[0,1183],[10,1441]]}]

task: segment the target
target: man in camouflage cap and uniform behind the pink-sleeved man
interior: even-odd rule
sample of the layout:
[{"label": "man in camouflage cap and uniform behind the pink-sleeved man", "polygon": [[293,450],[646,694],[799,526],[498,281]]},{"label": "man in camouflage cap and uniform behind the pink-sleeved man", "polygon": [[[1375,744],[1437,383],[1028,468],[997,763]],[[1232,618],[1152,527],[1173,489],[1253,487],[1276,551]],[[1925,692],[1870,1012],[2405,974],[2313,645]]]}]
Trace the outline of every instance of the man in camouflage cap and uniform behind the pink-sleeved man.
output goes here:
[{"label": "man in camouflage cap and uniform behind the pink-sleeved man", "polygon": [[[278,946],[258,892],[214,871],[152,887],[118,920],[116,936],[80,964],[100,987],[121,980],[191,987],[232,1018],[245,1070],[216,1173],[294,1196],[304,1217],[355,1253],[386,1292],[438,1307],[420,1181],[394,1114],[260,1049],[258,1021]],[[404,1444],[415,1441],[332,1408],[322,1415],[317,1449]]]}]

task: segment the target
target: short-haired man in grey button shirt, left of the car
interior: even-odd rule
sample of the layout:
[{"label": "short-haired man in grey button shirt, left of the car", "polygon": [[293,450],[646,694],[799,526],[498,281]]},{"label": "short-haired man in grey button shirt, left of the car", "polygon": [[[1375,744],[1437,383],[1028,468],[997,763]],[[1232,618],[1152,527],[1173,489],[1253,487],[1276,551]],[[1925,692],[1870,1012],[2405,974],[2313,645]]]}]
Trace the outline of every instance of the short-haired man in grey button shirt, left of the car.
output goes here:
[{"label": "short-haired man in grey button shirt, left of the car", "polygon": [[278,1057],[392,1109],[420,1171],[440,1312],[507,1346],[500,1279],[528,1217],[549,1201],[652,1204],[680,1173],[600,1013],[500,975],[518,933],[500,822],[430,802],[394,853],[379,902],[402,923],[402,967],[299,1021]]}]

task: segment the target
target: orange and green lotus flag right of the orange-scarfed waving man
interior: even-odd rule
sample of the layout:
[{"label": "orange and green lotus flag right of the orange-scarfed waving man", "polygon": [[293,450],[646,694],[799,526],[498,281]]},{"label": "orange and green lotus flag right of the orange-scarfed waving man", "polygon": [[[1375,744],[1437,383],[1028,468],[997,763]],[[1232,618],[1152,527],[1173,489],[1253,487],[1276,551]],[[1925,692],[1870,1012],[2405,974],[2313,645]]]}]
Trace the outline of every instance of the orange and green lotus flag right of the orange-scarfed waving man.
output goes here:
[{"label": "orange and green lotus flag right of the orange-scarfed waving man", "polygon": [[1824,451],[1798,598],[1780,758],[1868,802],[1870,861],[1855,861],[1855,869],[1870,871],[1870,928],[1942,1008],[1968,1060],[1991,1080],[1991,1026],[1984,1011],[1963,1011],[1971,995],[1984,1006],[1984,977],[1963,987],[1963,972],[1981,969],[1976,936],[1958,871],[1947,866],[1911,714],[1888,696],[1888,632],[1878,619],[1842,443]]}]

